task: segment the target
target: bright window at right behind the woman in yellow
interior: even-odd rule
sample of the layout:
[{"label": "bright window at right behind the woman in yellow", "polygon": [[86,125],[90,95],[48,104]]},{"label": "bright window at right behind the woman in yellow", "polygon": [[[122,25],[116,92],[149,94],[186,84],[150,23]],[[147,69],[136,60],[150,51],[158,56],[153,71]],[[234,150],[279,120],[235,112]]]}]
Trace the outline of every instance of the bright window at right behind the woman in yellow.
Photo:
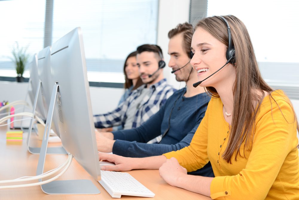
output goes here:
[{"label": "bright window at right behind the woman in yellow", "polygon": [[263,78],[299,99],[299,1],[208,1],[207,16],[235,15],[246,25]]}]

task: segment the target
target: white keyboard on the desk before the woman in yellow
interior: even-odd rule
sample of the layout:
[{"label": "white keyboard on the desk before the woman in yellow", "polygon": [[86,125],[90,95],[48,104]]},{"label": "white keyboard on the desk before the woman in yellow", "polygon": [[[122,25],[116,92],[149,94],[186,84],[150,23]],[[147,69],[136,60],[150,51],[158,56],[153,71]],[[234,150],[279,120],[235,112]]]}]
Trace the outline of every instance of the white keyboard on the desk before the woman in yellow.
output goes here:
[{"label": "white keyboard on the desk before the woman in yellow", "polygon": [[99,183],[113,197],[120,198],[122,195],[154,197],[155,194],[144,187],[130,174],[124,172],[110,172],[101,170]]}]

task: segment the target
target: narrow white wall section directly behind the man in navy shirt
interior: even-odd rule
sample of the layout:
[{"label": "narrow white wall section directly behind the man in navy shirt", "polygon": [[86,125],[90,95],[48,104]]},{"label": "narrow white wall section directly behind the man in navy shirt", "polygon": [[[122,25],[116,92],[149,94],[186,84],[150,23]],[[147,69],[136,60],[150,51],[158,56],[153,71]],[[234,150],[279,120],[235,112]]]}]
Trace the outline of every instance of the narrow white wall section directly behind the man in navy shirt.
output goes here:
[{"label": "narrow white wall section directly behind the man in navy shirt", "polygon": [[190,0],[160,0],[159,1],[159,17],[158,17],[158,36],[157,44],[163,50],[166,67],[163,69],[164,77],[170,85],[175,88],[182,88],[184,83],[179,83],[175,79],[175,75],[171,73],[171,68],[168,67],[170,56],[168,51],[168,31],[175,28],[179,23],[189,21]]}]

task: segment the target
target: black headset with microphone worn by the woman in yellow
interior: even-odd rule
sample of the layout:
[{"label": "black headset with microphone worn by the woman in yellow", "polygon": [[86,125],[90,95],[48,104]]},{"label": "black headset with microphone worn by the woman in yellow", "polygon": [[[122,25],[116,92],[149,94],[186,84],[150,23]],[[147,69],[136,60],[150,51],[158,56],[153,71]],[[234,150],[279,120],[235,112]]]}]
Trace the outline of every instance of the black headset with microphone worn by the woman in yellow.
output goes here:
[{"label": "black headset with microphone worn by the woman in yellow", "polygon": [[[231,42],[231,28],[228,25],[227,20],[223,17],[223,16],[219,16],[226,24],[227,27],[227,32],[228,32],[228,48],[226,50],[225,56],[227,59],[227,62],[219,68],[219,70],[221,70],[225,65],[227,65],[228,63],[234,64],[235,63],[235,48],[232,45]],[[193,57],[193,53],[191,53],[191,56]],[[218,72],[219,70],[217,70],[216,72]],[[199,86],[199,84],[201,84],[204,80],[210,78],[211,76],[213,76],[216,72],[212,73],[210,76],[208,76],[207,78],[203,79],[202,81],[196,82],[193,84],[193,87],[196,88],[197,86]]]}]

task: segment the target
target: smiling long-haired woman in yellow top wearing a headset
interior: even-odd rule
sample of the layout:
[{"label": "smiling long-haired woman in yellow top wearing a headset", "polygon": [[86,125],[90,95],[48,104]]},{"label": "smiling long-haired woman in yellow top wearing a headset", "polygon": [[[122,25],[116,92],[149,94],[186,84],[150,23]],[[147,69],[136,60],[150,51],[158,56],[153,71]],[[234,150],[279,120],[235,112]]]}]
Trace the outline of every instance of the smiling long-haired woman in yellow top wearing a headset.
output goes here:
[{"label": "smiling long-haired woman in yellow top wearing a headset", "polygon": [[[116,164],[103,169],[159,168],[170,185],[212,199],[299,199],[298,120],[283,91],[262,79],[245,25],[235,16],[202,19],[191,50],[213,98],[190,145],[148,158],[100,154]],[[187,175],[209,160],[215,178]]]}]

